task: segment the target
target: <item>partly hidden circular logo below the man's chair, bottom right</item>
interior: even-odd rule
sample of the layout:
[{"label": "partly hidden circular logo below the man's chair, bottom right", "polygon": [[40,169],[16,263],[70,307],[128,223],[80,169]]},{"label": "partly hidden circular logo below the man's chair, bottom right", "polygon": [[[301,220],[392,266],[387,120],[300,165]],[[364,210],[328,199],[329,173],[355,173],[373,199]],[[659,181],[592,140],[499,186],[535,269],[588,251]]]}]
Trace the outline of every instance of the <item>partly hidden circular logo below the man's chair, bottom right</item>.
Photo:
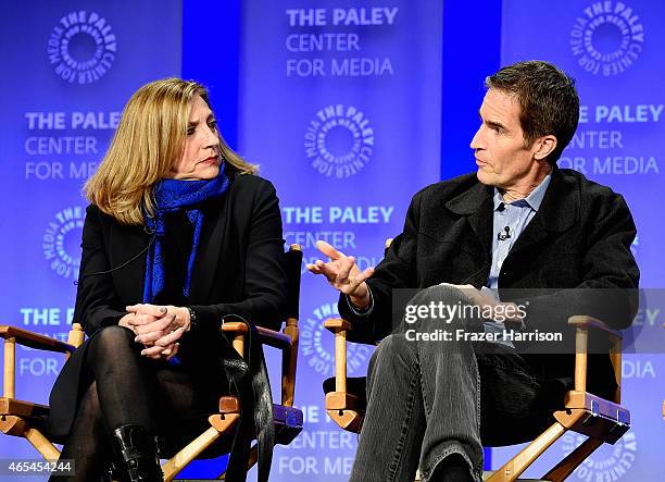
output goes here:
[{"label": "partly hidden circular logo below the man's chair, bottom right", "polygon": [[[562,450],[567,455],[581,444],[586,437],[577,433],[565,433],[562,436]],[[569,480],[575,481],[616,481],[624,478],[628,472],[637,456],[637,441],[635,432],[628,431],[616,444],[603,445],[588,457],[570,474]],[[632,480],[630,475],[626,480]]]}]

